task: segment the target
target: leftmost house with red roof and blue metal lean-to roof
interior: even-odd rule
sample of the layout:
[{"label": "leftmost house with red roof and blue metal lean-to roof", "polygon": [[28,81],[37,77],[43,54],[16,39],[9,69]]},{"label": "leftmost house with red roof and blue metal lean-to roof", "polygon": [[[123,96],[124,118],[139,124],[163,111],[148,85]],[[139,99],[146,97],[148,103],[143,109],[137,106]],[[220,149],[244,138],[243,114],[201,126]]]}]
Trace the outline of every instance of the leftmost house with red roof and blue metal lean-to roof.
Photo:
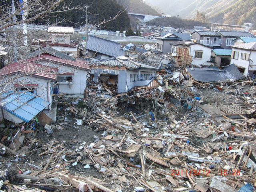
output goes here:
[{"label": "leftmost house with red roof and blue metal lean-to roof", "polygon": [[22,61],[6,65],[0,70],[1,114],[12,122],[29,122],[52,104],[52,87],[57,68]]}]

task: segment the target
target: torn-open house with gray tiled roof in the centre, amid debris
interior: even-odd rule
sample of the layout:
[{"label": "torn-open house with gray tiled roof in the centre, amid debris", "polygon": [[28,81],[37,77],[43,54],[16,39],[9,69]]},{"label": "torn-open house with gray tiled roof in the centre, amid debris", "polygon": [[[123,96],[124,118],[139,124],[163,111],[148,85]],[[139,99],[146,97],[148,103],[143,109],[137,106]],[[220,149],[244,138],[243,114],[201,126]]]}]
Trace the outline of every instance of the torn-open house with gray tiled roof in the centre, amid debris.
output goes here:
[{"label": "torn-open house with gray tiled roof in the centre, amid debris", "polygon": [[156,72],[160,68],[125,56],[92,62],[90,68],[90,82],[105,83],[118,93],[128,92],[134,87],[161,85],[156,80]]}]

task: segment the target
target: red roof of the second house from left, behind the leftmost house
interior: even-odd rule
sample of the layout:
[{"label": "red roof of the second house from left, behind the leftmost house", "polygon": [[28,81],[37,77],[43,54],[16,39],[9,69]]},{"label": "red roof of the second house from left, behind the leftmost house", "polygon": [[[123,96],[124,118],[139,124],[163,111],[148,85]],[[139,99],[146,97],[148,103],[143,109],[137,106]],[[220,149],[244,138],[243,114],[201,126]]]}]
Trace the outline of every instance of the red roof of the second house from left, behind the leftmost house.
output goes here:
[{"label": "red roof of the second house from left, behind the leftmost house", "polygon": [[67,64],[67,65],[70,65],[70,66],[74,66],[76,68],[90,70],[86,61],[78,60],[78,59],[76,59],[75,61],[71,61],[71,60],[68,60],[68,59],[58,58],[58,57],[55,57],[55,56],[52,56],[52,55],[49,55],[49,54],[42,54],[38,57],[28,59],[28,61],[36,61],[36,60],[41,60],[41,59],[52,60],[52,61],[55,61],[55,62],[59,62],[59,63]]}]

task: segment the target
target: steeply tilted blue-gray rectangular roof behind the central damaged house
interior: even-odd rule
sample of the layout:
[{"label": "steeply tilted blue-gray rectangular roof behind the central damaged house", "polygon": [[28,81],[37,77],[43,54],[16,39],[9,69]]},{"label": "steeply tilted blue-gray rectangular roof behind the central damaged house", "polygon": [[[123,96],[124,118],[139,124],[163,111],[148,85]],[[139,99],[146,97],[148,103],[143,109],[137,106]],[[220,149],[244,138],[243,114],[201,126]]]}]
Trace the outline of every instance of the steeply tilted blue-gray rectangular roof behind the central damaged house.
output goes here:
[{"label": "steeply tilted blue-gray rectangular roof behind the central damaged house", "polygon": [[121,44],[104,38],[90,35],[86,43],[86,50],[99,52],[112,57],[124,55]]}]

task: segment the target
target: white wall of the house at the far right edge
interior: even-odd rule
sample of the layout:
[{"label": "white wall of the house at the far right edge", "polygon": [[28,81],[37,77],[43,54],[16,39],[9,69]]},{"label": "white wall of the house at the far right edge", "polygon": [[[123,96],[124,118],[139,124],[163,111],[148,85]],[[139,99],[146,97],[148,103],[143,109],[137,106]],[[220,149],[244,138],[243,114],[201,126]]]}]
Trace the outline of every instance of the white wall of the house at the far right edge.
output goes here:
[{"label": "white wall of the house at the far right edge", "polygon": [[[238,49],[238,48],[232,48],[232,51],[239,52],[238,60],[231,58],[231,64],[235,64],[237,67],[244,68],[244,76],[248,76],[248,72],[252,70],[256,70],[256,51],[250,51],[250,50],[244,50],[244,49]],[[242,60],[241,54],[246,53],[250,54],[249,61]],[[251,65],[249,66],[249,62],[251,60]]]}]

